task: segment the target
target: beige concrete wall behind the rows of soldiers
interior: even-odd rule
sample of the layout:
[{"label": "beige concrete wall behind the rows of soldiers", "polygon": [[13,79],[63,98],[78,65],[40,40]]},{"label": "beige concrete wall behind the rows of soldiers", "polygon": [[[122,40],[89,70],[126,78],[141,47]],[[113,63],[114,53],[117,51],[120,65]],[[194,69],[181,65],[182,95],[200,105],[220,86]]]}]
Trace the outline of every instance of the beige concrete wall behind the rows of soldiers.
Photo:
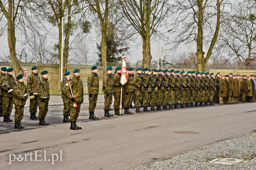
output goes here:
[{"label": "beige concrete wall behind the rows of soldiers", "polygon": [[[27,68],[27,77],[28,75],[31,74],[31,68],[33,67],[32,65],[20,65],[21,68]],[[37,65],[38,66],[38,74],[41,77],[41,71],[43,70],[48,70],[48,81],[50,83],[50,92],[51,93],[58,93],[60,92],[60,66],[56,66],[56,65],[51,65],[51,64],[40,64]],[[0,67],[12,67],[10,65],[3,65]],[[86,92],[86,87],[85,87],[85,83],[87,83],[87,78],[88,76],[92,73],[91,70],[92,66],[78,66],[78,65],[68,65],[68,71],[71,72],[71,78],[72,78],[72,71],[75,68],[79,68],[81,70],[81,74],[80,77],[83,81],[84,84],[84,92]],[[136,68],[134,68],[136,69]],[[171,70],[173,68],[168,68],[168,70]],[[177,69],[174,69],[177,70]],[[196,71],[196,69],[179,69],[180,71],[185,71],[187,73],[187,71]],[[114,72],[114,70],[113,70]],[[256,74],[256,70],[224,70],[224,69],[206,69],[205,72],[209,72],[209,73],[218,73],[220,72],[220,74],[229,74],[229,73],[233,73],[233,74],[240,74],[240,75],[252,75],[252,74]],[[102,67],[98,68],[98,74],[100,76],[100,91],[102,89],[102,76],[103,76],[103,69]],[[15,74],[13,74],[14,77]],[[24,82],[25,84],[27,84],[27,78],[24,78]],[[87,89],[88,92],[88,89]]]}]

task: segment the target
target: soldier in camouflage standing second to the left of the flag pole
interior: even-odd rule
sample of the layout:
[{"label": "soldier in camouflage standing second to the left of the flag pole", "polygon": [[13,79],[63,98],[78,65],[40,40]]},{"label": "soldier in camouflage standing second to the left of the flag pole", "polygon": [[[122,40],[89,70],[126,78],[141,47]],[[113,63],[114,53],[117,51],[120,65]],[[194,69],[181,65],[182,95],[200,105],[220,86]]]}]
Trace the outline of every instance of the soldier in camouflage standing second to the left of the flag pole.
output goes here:
[{"label": "soldier in camouflage standing second to the left of the flag pole", "polygon": [[113,82],[113,75],[112,75],[113,68],[111,66],[107,67],[107,73],[103,75],[103,93],[104,93],[104,116],[110,117],[114,116],[109,113],[110,106],[113,100],[113,93],[114,93],[114,82]]}]

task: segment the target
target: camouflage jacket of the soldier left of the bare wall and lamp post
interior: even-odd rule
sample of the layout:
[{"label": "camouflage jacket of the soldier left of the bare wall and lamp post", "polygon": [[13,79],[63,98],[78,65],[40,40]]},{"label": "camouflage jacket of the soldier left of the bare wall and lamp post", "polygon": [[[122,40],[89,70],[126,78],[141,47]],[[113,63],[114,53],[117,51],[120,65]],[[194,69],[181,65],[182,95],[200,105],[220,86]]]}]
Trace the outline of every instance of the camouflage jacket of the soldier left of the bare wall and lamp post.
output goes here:
[{"label": "camouflage jacket of the soldier left of the bare wall and lamp post", "polygon": [[42,80],[39,80],[39,86],[37,88],[37,93],[38,99],[42,99],[43,97],[47,97],[45,99],[50,99],[50,87],[49,87],[49,82],[47,81],[48,79],[42,77]]}]

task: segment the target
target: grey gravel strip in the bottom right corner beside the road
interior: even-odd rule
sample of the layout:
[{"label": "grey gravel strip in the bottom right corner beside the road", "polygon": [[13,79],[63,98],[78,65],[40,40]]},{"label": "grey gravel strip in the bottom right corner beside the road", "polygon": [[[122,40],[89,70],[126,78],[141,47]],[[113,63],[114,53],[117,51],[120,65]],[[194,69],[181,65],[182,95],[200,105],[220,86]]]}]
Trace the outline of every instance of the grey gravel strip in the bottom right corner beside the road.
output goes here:
[{"label": "grey gravel strip in the bottom right corner beside the road", "polygon": [[[232,165],[210,163],[213,159],[225,157],[244,159],[245,162]],[[208,145],[135,169],[256,169],[256,133]]]}]

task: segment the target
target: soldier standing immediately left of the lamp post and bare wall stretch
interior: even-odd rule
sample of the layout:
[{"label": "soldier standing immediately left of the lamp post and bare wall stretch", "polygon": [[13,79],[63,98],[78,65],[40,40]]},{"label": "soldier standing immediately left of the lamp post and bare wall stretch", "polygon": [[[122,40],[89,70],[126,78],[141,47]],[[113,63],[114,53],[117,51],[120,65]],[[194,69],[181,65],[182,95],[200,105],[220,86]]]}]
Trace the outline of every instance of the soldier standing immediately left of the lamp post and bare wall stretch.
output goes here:
[{"label": "soldier standing immediately left of the lamp post and bare wall stretch", "polygon": [[39,125],[49,125],[46,123],[44,118],[48,112],[48,104],[50,100],[50,87],[48,82],[48,71],[44,70],[41,72],[42,80],[39,80],[39,88],[37,89],[38,93],[38,106],[39,106]]}]

